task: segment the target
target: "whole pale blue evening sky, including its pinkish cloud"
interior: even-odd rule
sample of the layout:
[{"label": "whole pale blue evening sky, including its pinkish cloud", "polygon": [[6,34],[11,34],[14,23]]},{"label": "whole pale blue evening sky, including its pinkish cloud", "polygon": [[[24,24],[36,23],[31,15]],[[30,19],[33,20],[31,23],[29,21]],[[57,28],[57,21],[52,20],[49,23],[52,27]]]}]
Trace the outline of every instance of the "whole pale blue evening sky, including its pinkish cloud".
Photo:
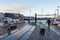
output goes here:
[{"label": "whole pale blue evening sky, including its pinkish cloud", "polygon": [[54,14],[57,6],[60,0],[0,0],[0,12],[19,12],[26,16]]}]

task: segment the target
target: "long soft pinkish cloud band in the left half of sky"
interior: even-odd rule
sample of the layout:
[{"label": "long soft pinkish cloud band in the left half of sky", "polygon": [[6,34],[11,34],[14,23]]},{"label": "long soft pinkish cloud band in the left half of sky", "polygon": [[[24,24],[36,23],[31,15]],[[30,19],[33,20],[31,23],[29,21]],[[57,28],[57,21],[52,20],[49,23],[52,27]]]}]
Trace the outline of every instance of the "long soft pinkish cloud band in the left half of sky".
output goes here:
[{"label": "long soft pinkish cloud band in the left half of sky", "polygon": [[1,5],[0,11],[21,11],[30,9],[31,6],[29,5],[20,5],[20,4],[14,4],[14,5]]}]

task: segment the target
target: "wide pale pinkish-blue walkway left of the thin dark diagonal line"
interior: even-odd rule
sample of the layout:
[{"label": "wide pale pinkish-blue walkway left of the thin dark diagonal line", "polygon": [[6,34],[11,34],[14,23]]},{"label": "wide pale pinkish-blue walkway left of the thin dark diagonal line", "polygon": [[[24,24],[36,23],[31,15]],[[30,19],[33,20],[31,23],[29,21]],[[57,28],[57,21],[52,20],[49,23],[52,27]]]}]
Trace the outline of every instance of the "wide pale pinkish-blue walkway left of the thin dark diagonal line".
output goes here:
[{"label": "wide pale pinkish-blue walkway left of the thin dark diagonal line", "polygon": [[[32,30],[32,26],[31,25],[25,25],[25,27],[21,30],[19,30],[18,32],[2,39],[2,40],[21,40],[21,38],[24,37],[24,35],[29,31]],[[32,30],[33,31],[33,30]]]}]

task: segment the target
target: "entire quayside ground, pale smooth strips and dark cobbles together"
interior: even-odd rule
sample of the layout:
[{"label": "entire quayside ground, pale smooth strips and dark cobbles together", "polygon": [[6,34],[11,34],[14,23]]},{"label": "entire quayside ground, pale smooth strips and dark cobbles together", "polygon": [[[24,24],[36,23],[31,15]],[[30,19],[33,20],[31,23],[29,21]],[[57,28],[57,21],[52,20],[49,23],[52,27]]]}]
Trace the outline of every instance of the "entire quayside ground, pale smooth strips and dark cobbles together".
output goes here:
[{"label": "entire quayside ground, pale smooth strips and dark cobbles together", "polygon": [[[45,35],[40,34],[40,28],[45,28]],[[55,32],[57,29],[53,26],[48,29],[45,23],[37,23],[35,26],[26,24],[24,27],[19,28],[16,33],[3,38],[1,40],[60,40],[60,35]]]}]

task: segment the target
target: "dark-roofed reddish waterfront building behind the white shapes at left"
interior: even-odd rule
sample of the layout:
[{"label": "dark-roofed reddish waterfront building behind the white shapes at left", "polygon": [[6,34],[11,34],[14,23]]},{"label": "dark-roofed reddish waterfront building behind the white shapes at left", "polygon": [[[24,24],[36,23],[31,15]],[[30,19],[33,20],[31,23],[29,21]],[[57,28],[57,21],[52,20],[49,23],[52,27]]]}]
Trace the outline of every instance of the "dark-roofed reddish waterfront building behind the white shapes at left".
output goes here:
[{"label": "dark-roofed reddish waterfront building behind the white shapes at left", "polygon": [[22,22],[24,16],[19,13],[5,13],[4,17],[6,17],[7,20],[12,19],[14,23],[17,23],[17,22]]}]

